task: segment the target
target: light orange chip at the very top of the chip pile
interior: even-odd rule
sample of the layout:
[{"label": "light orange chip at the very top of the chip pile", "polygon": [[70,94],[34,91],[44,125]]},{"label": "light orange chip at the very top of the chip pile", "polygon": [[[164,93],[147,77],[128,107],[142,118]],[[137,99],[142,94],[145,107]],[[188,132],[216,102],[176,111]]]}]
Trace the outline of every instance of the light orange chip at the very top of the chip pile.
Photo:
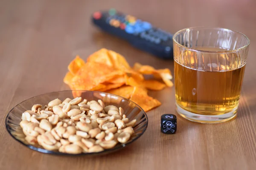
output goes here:
[{"label": "light orange chip at the very top of the chip pile", "polygon": [[87,62],[98,62],[113,67],[113,63],[111,61],[111,57],[108,54],[108,50],[106,48],[102,48],[99,51],[91,54],[87,58]]}]

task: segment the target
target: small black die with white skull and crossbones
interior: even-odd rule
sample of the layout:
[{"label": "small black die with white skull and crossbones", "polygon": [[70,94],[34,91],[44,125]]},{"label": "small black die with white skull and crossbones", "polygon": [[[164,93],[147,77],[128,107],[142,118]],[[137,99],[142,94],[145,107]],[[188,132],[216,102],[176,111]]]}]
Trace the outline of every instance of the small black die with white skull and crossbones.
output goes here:
[{"label": "small black die with white skull and crossbones", "polygon": [[177,117],[174,114],[163,114],[161,116],[161,132],[174,134],[177,130]]}]

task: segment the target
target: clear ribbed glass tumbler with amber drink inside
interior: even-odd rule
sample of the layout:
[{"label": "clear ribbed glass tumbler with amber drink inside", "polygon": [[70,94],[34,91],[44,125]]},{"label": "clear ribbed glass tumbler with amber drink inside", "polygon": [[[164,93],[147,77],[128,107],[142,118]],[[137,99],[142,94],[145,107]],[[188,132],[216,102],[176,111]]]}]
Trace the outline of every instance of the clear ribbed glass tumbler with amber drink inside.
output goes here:
[{"label": "clear ribbed glass tumbler with amber drink inside", "polygon": [[173,36],[176,110],[201,123],[236,117],[250,40],[224,28],[185,28]]}]

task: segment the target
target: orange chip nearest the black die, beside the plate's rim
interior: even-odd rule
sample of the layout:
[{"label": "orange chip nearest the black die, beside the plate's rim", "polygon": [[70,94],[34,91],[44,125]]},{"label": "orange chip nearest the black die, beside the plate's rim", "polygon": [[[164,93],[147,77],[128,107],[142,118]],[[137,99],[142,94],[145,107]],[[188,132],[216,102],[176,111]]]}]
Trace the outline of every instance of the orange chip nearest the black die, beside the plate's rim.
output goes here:
[{"label": "orange chip nearest the black die, beside the plate's rim", "polygon": [[148,96],[144,92],[142,93],[142,91],[143,89],[135,87],[133,94],[131,94],[130,100],[143,108],[144,111],[149,111],[152,108],[161,105],[161,102],[159,102],[157,99]]}]

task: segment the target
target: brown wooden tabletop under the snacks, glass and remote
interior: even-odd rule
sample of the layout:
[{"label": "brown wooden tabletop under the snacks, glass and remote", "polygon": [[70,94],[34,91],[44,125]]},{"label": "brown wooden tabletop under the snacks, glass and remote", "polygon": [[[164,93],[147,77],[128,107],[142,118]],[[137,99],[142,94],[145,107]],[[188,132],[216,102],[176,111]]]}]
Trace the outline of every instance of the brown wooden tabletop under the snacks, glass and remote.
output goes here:
[{"label": "brown wooden tabletop under the snacks, glass and remote", "polygon": [[[151,91],[163,105],[149,111],[148,129],[127,148],[100,157],[59,157],[30,150],[7,133],[4,120],[19,102],[69,89],[62,81],[68,63],[100,48],[134,62],[170,68],[90,23],[99,9],[117,8],[175,33],[191,26],[241,31],[250,41],[238,116],[221,124],[199,124],[178,116],[175,135],[160,133],[160,115],[175,113],[175,90]],[[255,170],[255,0],[2,0],[0,2],[0,170]],[[177,113],[175,113],[177,115]]]}]

